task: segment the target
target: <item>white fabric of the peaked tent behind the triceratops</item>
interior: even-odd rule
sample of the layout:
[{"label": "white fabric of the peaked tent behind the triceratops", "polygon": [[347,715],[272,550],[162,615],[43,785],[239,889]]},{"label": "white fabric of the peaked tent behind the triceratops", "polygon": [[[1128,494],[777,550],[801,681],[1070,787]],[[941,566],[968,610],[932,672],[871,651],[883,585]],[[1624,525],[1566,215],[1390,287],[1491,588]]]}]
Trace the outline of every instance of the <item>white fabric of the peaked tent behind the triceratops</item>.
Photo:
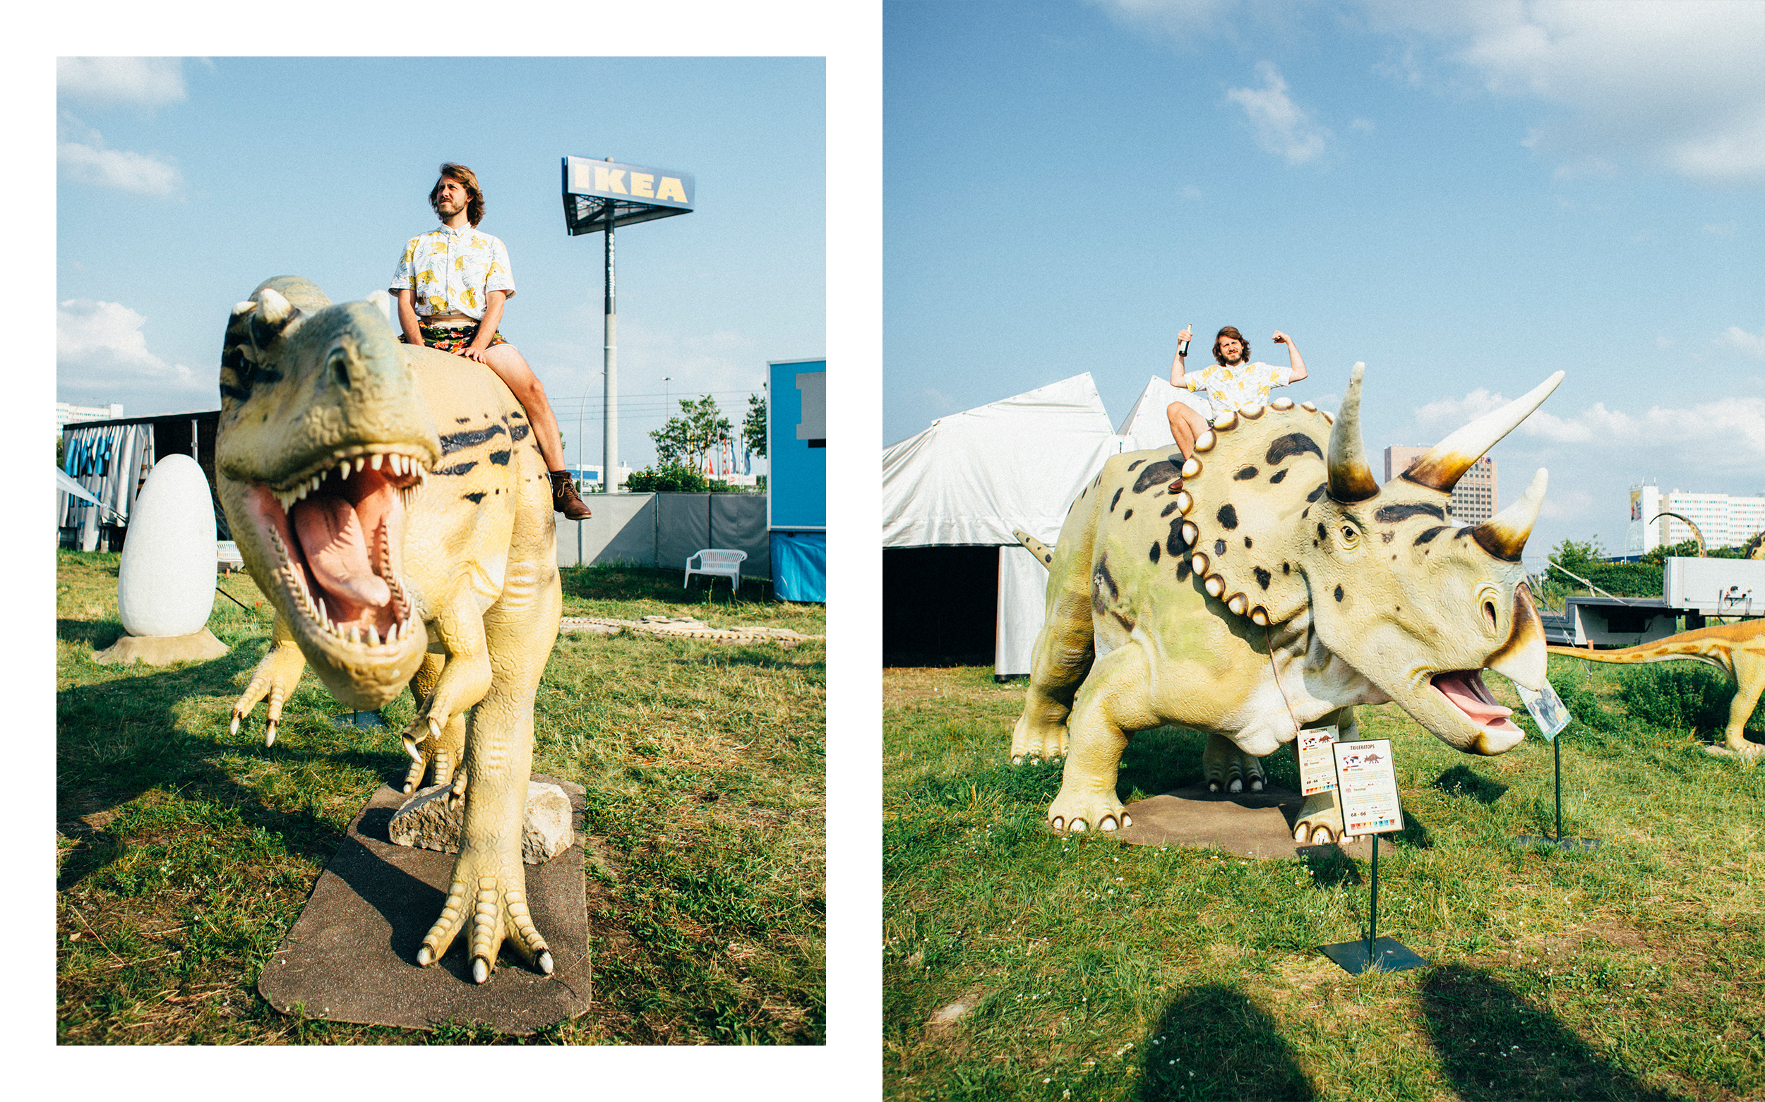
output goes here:
[{"label": "white fabric of the peaked tent behind the triceratops", "polygon": [[882,450],[884,548],[999,548],[995,675],[1029,674],[1048,582],[1011,529],[1054,543],[1068,506],[1121,450],[1089,372],[939,418]]}]

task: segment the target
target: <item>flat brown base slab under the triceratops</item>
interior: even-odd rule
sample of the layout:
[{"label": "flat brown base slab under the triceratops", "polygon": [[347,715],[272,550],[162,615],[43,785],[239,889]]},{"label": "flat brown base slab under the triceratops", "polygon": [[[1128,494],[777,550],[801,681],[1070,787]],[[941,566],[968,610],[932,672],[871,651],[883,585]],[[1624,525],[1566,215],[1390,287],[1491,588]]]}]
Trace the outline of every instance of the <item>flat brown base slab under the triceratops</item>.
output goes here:
[{"label": "flat brown base slab under the triceratops", "polygon": [[[1297,792],[1278,788],[1232,793],[1207,792],[1205,783],[1195,783],[1128,804],[1133,825],[1119,838],[1135,846],[1218,846],[1258,860],[1297,857],[1324,848],[1294,841],[1294,822],[1304,802]],[[1361,839],[1341,852],[1370,859],[1373,846]]]}]

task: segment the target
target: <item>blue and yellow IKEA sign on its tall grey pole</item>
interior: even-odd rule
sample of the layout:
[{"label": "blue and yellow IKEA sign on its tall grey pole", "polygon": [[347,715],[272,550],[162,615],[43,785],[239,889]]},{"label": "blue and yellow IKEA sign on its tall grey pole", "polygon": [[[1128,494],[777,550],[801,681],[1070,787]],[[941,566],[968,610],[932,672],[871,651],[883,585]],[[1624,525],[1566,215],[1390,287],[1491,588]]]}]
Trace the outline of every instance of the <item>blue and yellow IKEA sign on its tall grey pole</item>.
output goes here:
[{"label": "blue and yellow IKEA sign on its tall grey pole", "polygon": [[[612,231],[653,219],[692,213],[692,173],[618,164],[611,157],[563,159],[563,217],[570,236],[605,233],[604,402],[600,485],[620,490],[620,328],[612,293]],[[581,436],[581,432],[577,432]]]}]

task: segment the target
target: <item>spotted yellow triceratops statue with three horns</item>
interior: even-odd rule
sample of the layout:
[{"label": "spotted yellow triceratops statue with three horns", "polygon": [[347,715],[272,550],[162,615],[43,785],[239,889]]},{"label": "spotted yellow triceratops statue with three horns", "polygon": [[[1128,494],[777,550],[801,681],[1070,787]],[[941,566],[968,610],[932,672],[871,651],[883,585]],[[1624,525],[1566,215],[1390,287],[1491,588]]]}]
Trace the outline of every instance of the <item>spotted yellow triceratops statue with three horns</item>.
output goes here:
[{"label": "spotted yellow triceratops statue with three horns", "polygon": [[[1380,487],[1361,444],[1363,365],[1336,418],[1290,398],[1216,418],[1195,451],[1103,464],[1050,550],[1047,622],[1011,756],[1066,755],[1055,830],[1130,825],[1115,797],[1123,748],[1165,723],[1209,735],[1213,788],[1262,785],[1266,756],[1301,726],[1396,700],[1467,753],[1523,732],[1484,688],[1497,670],[1544,684],[1544,633],[1520,564],[1544,499],[1476,527],[1447,518],[1453,485],[1562,381],[1465,425]],[[1327,451],[1326,451],[1327,450]],[[1336,841],[1333,793],[1308,797],[1294,838]]]}]

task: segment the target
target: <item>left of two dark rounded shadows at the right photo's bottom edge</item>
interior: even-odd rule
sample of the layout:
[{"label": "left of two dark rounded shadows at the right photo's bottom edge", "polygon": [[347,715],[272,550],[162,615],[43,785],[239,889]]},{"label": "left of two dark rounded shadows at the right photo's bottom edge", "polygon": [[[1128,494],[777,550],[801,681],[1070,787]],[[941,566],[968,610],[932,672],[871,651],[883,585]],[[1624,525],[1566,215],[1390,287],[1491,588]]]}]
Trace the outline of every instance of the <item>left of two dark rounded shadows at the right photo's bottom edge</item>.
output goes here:
[{"label": "left of two dark rounded shadows at the right photo's bottom edge", "polygon": [[1145,1044],[1137,1102],[1175,1098],[1317,1098],[1262,1007],[1236,987],[1188,987],[1165,1007]]}]

